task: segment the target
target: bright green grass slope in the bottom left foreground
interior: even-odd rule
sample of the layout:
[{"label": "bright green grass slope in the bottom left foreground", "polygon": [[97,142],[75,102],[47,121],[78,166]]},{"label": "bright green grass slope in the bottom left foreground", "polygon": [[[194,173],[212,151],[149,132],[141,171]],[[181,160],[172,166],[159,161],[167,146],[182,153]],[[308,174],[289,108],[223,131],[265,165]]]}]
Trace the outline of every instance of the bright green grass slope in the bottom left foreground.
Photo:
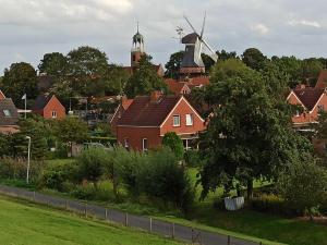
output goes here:
[{"label": "bright green grass slope in the bottom left foreground", "polygon": [[0,196],[0,244],[178,245],[180,243]]}]

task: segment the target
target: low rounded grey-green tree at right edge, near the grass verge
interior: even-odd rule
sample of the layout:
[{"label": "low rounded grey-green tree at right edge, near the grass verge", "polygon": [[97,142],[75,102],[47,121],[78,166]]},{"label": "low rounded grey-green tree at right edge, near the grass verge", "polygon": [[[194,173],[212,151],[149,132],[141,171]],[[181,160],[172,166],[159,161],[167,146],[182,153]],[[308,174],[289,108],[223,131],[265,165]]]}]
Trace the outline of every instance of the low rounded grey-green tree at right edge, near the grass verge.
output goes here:
[{"label": "low rounded grey-green tree at right edge, near the grass verge", "polygon": [[279,193],[290,206],[308,211],[327,200],[327,171],[312,156],[286,168],[277,183]]}]

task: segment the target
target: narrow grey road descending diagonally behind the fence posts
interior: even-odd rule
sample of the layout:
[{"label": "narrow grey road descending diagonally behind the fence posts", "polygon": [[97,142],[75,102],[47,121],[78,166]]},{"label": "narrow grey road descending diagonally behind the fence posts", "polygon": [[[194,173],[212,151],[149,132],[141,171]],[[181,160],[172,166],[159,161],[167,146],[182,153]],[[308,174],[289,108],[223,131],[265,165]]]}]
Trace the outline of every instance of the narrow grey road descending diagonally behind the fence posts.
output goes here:
[{"label": "narrow grey road descending diagonally behind the fence posts", "polygon": [[53,197],[23,188],[0,185],[0,193],[9,196],[24,198],[37,204],[65,209],[68,211],[95,217],[108,222],[137,228],[149,233],[156,233],[166,237],[172,237],[189,244],[201,245],[263,245],[233,236],[208,232],[186,225],[153,219],[150,217],[136,216],[113,209],[104,208],[87,203],[71,200],[61,197]]}]

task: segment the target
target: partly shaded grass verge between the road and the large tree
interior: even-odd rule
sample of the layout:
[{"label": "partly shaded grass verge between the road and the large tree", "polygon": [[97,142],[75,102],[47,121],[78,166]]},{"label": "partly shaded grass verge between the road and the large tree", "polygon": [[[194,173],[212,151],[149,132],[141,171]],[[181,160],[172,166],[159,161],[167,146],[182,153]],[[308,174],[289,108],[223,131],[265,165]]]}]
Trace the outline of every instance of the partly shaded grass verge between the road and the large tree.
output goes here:
[{"label": "partly shaded grass verge between the road and the large tree", "polygon": [[[193,182],[195,182],[197,170],[190,169],[189,173]],[[259,186],[261,183],[255,183],[254,185]],[[196,188],[196,198],[198,198],[201,191],[202,187],[198,185]],[[194,209],[187,216],[187,220],[172,216],[167,218],[164,213],[161,216],[158,212],[155,212],[154,216],[159,217],[159,219],[234,235],[241,238],[262,241],[264,244],[277,244],[278,242],[294,245],[327,245],[327,226],[294,219],[282,219],[249,210],[238,212],[221,211],[213,208],[214,199],[221,194],[222,189],[218,188],[215,194],[210,193],[205,201],[196,201]],[[137,208],[138,205],[108,205],[108,207],[123,208],[126,211],[142,213],[142,210]],[[150,209],[149,212],[152,212]]]}]

